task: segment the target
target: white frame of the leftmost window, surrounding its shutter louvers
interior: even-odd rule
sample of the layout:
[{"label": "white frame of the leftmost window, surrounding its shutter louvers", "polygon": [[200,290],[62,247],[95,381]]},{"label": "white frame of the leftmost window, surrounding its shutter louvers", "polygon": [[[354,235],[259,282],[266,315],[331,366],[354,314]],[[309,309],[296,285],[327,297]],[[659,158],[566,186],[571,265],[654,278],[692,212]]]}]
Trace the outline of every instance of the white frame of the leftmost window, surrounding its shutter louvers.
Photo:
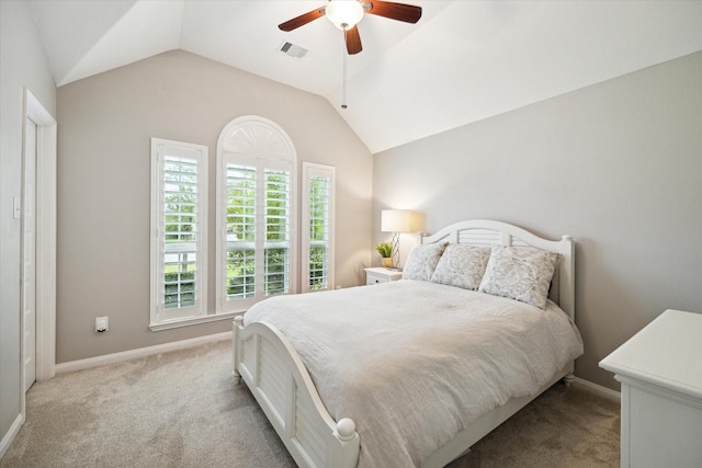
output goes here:
[{"label": "white frame of the leftmost window, surrounding its shutter louvers", "polygon": [[[170,153],[170,155],[169,155]],[[150,236],[150,316],[152,331],[183,327],[197,321],[207,321],[207,212],[208,212],[208,148],[204,145],[151,138],[151,236]],[[166,212],[163,191],[166,158],[177,156],[192,159],[197,164],[197,196],[195,213],[195,304],[191,307],[167,309],[165,307],[165,236]]]}]

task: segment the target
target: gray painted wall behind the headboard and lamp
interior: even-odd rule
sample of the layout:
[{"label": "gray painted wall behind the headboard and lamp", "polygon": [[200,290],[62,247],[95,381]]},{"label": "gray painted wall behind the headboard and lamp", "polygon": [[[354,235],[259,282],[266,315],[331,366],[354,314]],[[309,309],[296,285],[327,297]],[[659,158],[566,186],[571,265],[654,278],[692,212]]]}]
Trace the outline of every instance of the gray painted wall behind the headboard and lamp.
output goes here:
[{"label": "gray painted wall behind the headboard and lamp", "polygon": [[385,207],[429,232],[489,218],[571,235],[576,375],[618,388],[601,358],[665,309],[702,312],[700,83],[697,53],[381,152],[374,241]]}]

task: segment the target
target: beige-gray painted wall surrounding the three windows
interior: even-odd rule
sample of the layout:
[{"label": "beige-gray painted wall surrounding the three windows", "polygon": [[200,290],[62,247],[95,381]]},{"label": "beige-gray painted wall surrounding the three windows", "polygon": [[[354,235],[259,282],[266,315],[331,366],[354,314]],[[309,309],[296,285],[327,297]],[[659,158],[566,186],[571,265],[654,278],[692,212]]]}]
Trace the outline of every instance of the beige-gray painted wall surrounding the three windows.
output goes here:
[{"label": "beige-gray painted wall surrounding the three windows", "polygon": [[[231,119],[260,115],[298,162],[337,168],[336,283],[371,261],[372,156],[324,99],[174,50],[58,90],[57,362],[228,331],[230,320],[151,332],[150,138],[210,148],[208,309],[215,308],[215,159]],[[94,333],[94,318],[110,331]]]}]

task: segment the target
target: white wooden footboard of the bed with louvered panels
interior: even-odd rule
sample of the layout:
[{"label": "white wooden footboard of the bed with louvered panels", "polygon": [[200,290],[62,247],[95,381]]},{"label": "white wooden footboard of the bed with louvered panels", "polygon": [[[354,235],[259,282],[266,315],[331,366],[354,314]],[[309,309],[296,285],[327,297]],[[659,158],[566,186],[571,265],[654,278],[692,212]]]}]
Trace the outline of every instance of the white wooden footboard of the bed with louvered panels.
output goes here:
[{"label": "white wooden footboard of the bed with louvered panels", "polygon": [[321,403],[297,352],[264,322],[234,319],[234,377],[253,397],[301,467],[353,468],[360,438],[352,420],[338,423]]}]

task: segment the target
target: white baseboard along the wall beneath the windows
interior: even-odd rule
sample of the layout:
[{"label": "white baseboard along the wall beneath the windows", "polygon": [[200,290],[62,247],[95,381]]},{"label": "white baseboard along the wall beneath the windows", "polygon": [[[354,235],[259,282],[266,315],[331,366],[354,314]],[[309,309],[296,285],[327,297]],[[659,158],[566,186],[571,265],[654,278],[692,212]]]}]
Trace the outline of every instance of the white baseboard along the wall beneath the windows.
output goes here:
[{"label": "white baseboard along the wall beneath the windows", "polygon": [[73,373],[77,370],[89,369],[91,367],[104,366],[105,364],[113,364],[138,357],[152,356],[154,354],[186,350],[189,347],[200,346],[201,344],[214,343],[223,340],[231,340],[231,332],[225,331],[223,333],[207,334],[205,336],[192,338],[190,340],[173,341],[171,343],[139,347],[136,350],[123,351],[113,354],[104,354],[102,356],[88,357],[86,359],[69,361],[67,363],[57,364],[56,374]]}]

